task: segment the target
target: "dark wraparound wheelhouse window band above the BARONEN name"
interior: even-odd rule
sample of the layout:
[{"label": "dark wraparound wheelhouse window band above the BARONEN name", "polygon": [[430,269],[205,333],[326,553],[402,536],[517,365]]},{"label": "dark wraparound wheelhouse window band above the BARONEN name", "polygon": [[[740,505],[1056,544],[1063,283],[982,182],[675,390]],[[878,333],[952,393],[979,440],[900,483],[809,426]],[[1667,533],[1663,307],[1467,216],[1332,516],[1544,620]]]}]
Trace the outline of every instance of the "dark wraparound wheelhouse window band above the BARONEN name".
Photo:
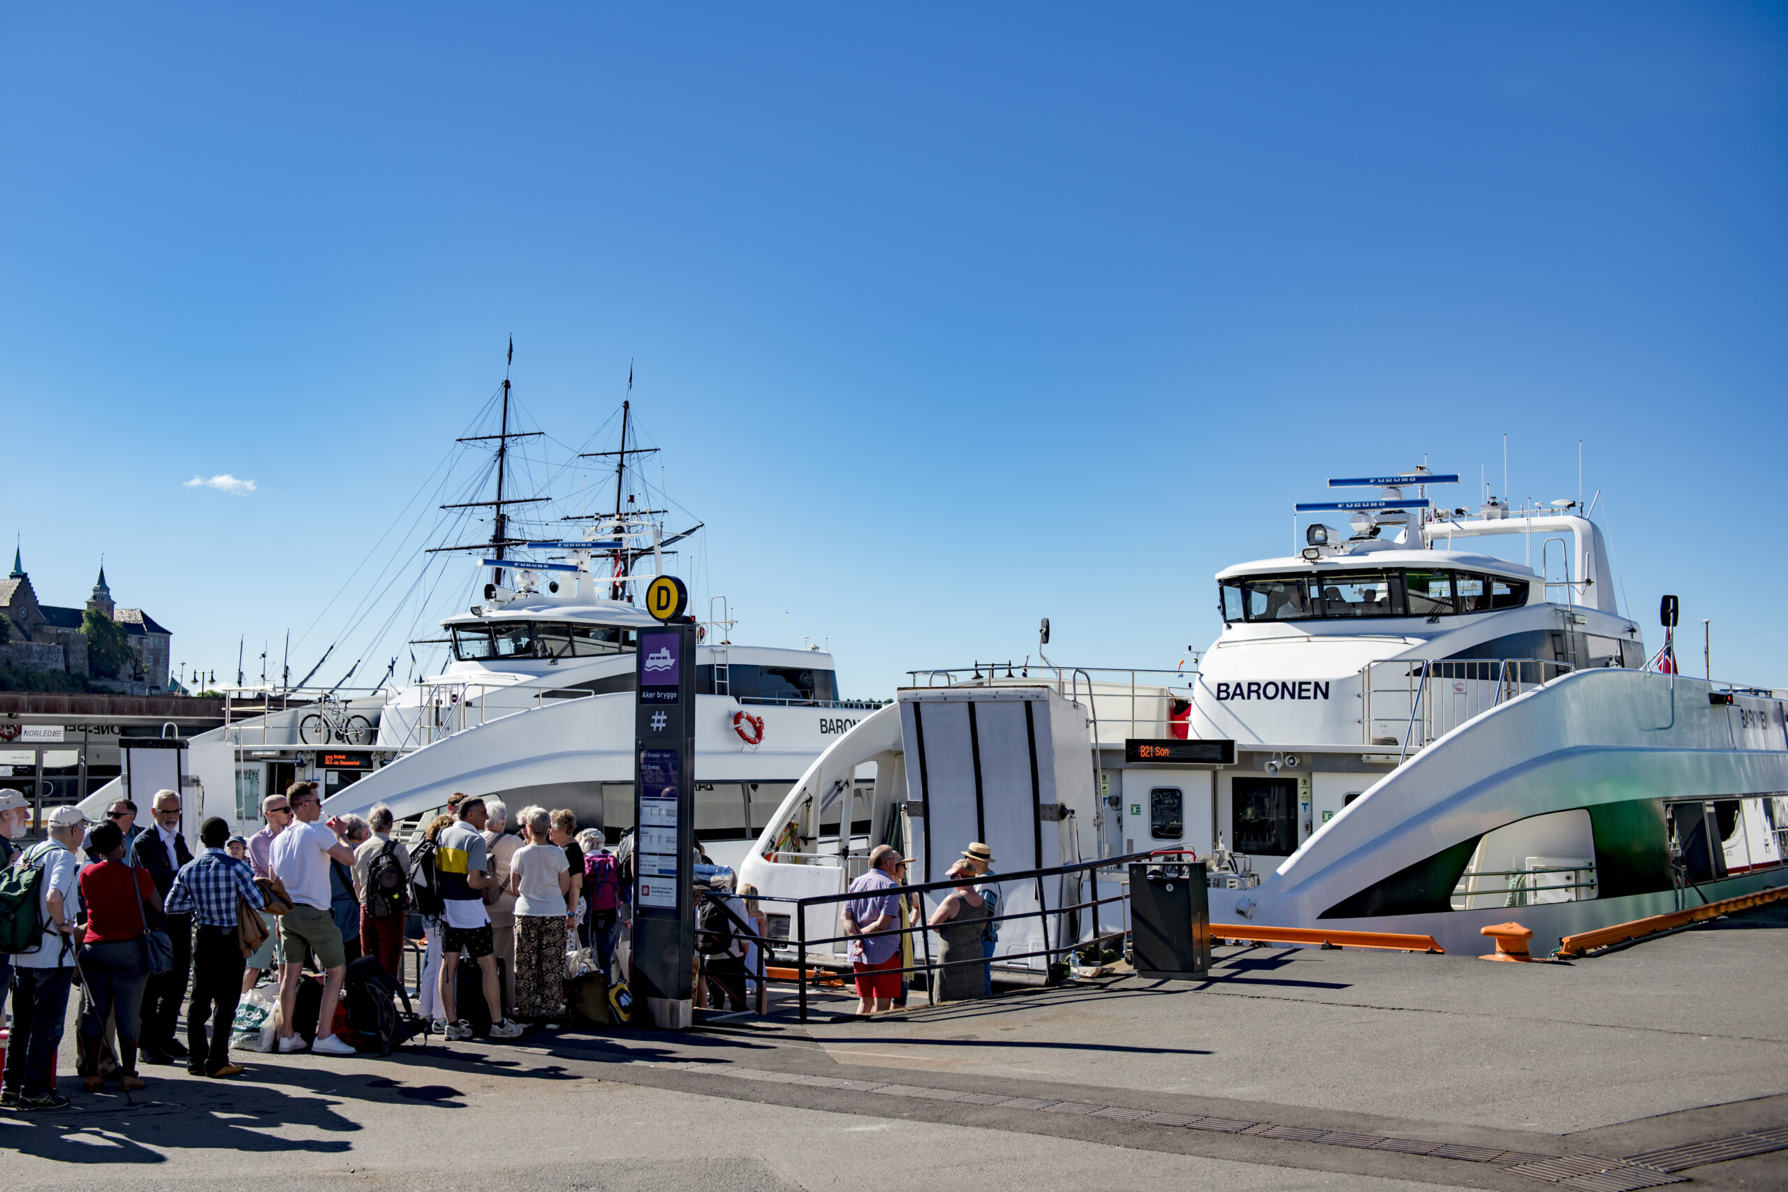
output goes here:
[{"label": "dark wraparound wheelhouse window band above the BARONEN name", "polygon": [[1246,575],[1219,584],[1225,622],[1450,617],[1527,604],[1520,579],[1450,570]]}]

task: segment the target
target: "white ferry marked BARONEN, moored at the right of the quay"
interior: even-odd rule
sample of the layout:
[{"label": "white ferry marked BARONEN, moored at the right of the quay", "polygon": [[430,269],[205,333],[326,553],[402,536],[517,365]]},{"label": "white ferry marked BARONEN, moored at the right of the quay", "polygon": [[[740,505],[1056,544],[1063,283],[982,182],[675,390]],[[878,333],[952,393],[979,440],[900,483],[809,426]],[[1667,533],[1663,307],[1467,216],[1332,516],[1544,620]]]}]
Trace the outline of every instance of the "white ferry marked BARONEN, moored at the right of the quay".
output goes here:
[{"label": "white ferry marked BARONEN, moored at the right of the quay", "polygon": [[[1298,506],[1305,520],[1352,515],[1350,533],[1312,522],[1298,554],[1223,570],[1223,633],[1196,674],[919,672],[946,686],[1041,679],[1084,717],[1098,797],[1060,772],[1076,831],[1017,824],[1021,856],[1046,838],[1062,861],[1189,847],[1212,861],[1216,922],[1432,935],[1464,954],[1493,951],[1480,928],[1511,919],[1541,954],[1563,935],[1788,883],[1788,693],[1690,679],[1668,642],[1649,656],[1593,502],[1489,499],[1473,513],[1436,506],[1443,483],[1457,477],[1330,481],[1380,491]],[[1486,540],[1525,561],[1470,549]],[[985,749],[974,724],[964,740]],[[982,801],[1012,776],[976,752],[971,785],[923,790],[903,761],[914,745],[896,709],[840,740],[746,876],[790,895],[835,888],[869,844],[921,847],[910,817],[937,820],[940,801],[967,799],[967,822],[1001,831]],[[864,795],[878,831],[821,842],[812,817],[858,767],[878,774]]]}]

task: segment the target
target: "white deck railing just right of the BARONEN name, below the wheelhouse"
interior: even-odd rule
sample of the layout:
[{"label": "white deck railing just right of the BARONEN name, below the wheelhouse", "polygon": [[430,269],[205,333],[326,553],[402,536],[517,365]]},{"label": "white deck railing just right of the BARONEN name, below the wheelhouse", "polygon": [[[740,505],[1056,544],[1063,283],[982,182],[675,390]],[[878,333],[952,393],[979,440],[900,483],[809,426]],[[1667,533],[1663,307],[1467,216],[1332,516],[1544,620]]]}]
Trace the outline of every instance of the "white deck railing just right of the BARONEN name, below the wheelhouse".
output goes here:
[{"label": "white deck railing just right of the BARONEN name, below the wheelhouse", "polygon": [[1391,658],[1361,668],[1362,743],[1407,756],[1455,727],[1575,670],[1548,658]]}]

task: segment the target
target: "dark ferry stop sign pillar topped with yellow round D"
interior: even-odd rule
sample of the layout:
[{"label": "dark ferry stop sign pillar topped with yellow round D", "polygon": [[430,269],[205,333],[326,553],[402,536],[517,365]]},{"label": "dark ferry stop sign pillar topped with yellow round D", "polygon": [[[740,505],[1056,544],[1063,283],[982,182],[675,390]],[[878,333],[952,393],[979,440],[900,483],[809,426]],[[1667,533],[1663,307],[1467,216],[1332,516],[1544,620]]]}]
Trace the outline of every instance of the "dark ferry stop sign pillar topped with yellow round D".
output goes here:
[{"label": "dark ferry stop sign pillar topped with yellow round D", "polygon": [[658,575],[645,608],[662,627],[640,629],[635,659],[633,992],[653,1026],[694,1024],[696,956],[696,625],[683,581]]}]

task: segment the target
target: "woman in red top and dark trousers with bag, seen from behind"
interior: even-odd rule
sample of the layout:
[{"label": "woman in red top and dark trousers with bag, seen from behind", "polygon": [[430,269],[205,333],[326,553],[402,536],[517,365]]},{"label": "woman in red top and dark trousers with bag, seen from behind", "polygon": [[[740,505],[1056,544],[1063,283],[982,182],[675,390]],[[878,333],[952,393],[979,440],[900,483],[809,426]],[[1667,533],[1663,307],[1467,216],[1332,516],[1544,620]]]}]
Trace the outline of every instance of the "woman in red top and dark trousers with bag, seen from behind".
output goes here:
[{"label": "woman in red top and dark trousers with bag, seen from behind", "polygon": [[[148,911],[161,915],[161,895],[148,870],[123,865],[123,833],[116,824],[100,824],[88,842],[100,861],[80,870],[80,901],[88,908],[88,935],[80,949],[80,981],[88,986],[88,1010],[80,1015],[80,1033],[95,1040],[105,1037],[105,1017],[118,1020],[118,1085],[141,1088],[136,1074],[136,1037],[143,1026],[143,985],[148,967],[143,954],[143,924]],[[145,906],[147,904],[147,906]],[[105,1081],[86,1078],[88,1092]]]}]

